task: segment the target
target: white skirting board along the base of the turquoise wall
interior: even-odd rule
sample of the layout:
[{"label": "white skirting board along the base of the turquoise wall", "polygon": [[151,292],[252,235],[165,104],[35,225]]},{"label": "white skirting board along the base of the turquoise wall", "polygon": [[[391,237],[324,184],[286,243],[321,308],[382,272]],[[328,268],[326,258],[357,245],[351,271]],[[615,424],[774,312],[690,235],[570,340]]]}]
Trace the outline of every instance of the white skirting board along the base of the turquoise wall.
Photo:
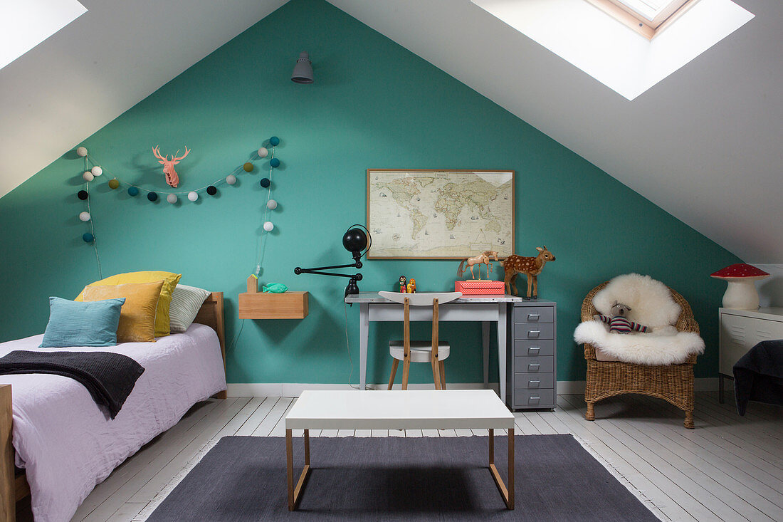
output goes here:
[{"label": "white skirting board along the base of the turquoise wall", "polygon": [[[481,390],[482,382],[447,382],[446,386],[451,390]],[[498,390],[497,382],[490,382],[489,387]],[[386,390],[386,384],[368,384],[370,390]],[[431,383],[408,385],[410,390],[432,390]],[[717,391],[717,377],[703,377],[696,379],[694,383],[696,391]],[[304,390],[348,390],[347,384],[307,384],[305,382],[229,382],[229,397],[299,397]],[[395,384],[395,390],[400,389]],[[558,395],[576,395],[584,393],[584,381],[557,381]]]}]

